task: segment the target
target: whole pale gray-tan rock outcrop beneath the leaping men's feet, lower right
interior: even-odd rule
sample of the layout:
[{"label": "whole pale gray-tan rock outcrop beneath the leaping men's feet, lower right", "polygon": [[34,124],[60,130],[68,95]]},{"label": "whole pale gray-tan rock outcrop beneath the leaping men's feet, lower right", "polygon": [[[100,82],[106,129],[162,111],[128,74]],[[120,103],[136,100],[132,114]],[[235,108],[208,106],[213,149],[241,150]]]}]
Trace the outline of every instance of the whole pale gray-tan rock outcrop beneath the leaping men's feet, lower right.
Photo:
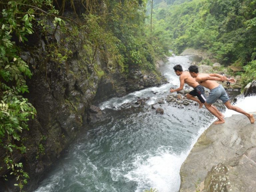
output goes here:
[{"label": "whole pale gray-tan rock outcrop beneath the leaping men's feet, lower right", "polygon": [[255,191],[255,124],[240,114],[225,121],[211,125],[192,148],[181,166],[180,192]]}]

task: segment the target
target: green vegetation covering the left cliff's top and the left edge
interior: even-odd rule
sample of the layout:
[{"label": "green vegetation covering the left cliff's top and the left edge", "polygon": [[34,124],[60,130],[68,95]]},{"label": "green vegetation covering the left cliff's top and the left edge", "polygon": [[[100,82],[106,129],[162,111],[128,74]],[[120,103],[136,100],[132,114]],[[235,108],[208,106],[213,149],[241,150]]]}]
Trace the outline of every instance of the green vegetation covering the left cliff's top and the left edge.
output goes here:
[{"label": "green vegetation covering the left cliff's top and the left edge", "polygon": [[[145,6],[144,0],[0,2],[0,145],[6,149],[6,167],[17,178],[15,185],[20,190],[28,174],[22,163],[15,162],[13,151],[26,152],[20,134],[36,114],[24,98],[31,70],[45,73],[47,79],[47,63],[66,67],[77,40],[86,52],[85,65],[93,66],[99,77],[106,71],[127,75],[133,69],[155,70],[157,56],[164,51],[158,39],[146,31]],[[40,48],[45,53],[35,65],[29,66],[21,58],[22,52]],[[96,52],[105,58],[104,65],[96,62]]]}]

